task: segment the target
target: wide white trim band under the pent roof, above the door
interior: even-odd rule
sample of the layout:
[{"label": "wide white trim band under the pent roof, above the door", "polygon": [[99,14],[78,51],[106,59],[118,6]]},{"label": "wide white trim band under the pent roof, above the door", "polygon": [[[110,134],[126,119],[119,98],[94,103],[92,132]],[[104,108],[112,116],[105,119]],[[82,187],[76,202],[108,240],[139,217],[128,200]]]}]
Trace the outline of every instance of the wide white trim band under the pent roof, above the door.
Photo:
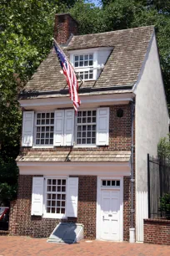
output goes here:
[{"label": "wide white trim band under the pent roof, above the door", "polygon": [[129,162],[18,162],[21,175],[44,176],[69,176],[69,175],[94,175],[94,176],[130,176]]}]

